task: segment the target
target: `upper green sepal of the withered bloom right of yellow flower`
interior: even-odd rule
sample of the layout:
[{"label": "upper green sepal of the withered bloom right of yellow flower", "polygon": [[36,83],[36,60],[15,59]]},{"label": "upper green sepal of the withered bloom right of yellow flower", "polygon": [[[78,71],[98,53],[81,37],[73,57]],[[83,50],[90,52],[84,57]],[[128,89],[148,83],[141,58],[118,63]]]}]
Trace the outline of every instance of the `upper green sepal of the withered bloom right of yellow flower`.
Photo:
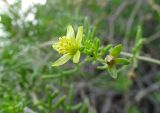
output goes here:
[{"label": "upper green sepal of the withered bloom right of yellow flower", "polygon": [[118,44],[117,46],[111,49],[110,54],[114,57],[117,57],[120,54],[121,50],[122,50],[122,45]]}]

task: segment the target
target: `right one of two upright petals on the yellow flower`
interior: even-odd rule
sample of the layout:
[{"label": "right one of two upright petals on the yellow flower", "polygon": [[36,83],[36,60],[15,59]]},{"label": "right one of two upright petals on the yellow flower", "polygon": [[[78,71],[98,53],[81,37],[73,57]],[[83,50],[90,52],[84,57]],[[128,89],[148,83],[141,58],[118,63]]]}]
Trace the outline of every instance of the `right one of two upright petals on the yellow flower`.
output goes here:
[{"label": "right one of two upright petals on the yellow flower", "polygon": [[76,35],[76,42],[78,44],[78,46],[80,46],[81,42],[82,42],[82,38],[83,38],[83,26],[78,27],[78,32]]}]

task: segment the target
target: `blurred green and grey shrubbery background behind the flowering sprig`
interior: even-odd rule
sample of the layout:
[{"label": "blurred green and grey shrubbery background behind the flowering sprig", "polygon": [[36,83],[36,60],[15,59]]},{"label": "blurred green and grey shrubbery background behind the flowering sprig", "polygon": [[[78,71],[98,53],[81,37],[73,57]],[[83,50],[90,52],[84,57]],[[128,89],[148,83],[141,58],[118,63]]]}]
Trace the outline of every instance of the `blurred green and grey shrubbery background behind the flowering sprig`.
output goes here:
[{"label": "blurred green and grey shrubbery background behind the flowering sprig", "polygon": [[136,60],[116,80],[92,63],[51,66],[54,40],[86,21],[129,53],[141,25],[139,55],[160,60],[160,0],[0,0],[0,113],[160,113],[158,64]]}]

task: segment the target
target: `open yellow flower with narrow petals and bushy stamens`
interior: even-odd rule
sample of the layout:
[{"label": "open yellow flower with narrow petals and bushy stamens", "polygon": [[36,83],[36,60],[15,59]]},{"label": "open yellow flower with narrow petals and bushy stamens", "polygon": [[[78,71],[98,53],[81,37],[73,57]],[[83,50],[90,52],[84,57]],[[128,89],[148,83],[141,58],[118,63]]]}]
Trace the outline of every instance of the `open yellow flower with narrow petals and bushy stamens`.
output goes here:
[{"label": "open yellow flower with narrow petals and bushy stamens", "polygon": [[71,25],[67,27],[66,36],[60,37],[59,41],[54,43],[52,47],[63,56],[55,61],[52,66],[60,66],[73,58],[74,63],[79,62],[80,46],[83,38],[83,27],[78,27],[78,32],[75,37],[74,30]]}]

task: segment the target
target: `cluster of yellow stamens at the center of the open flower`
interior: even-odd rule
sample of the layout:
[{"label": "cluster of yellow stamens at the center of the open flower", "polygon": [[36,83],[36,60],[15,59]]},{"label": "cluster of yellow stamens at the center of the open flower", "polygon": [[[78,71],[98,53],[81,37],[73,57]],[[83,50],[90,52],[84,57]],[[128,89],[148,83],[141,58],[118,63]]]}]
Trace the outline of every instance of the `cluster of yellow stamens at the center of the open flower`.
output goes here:
[{"label": "cluster of yellow stamens at the center of the open flower", "polygon": [[62,37],[59,38],[59,42],[53,45],[54,49],[57,50],[60,54],[74,54],[78,45],[76,44],[76,40],[74,38]]}]

